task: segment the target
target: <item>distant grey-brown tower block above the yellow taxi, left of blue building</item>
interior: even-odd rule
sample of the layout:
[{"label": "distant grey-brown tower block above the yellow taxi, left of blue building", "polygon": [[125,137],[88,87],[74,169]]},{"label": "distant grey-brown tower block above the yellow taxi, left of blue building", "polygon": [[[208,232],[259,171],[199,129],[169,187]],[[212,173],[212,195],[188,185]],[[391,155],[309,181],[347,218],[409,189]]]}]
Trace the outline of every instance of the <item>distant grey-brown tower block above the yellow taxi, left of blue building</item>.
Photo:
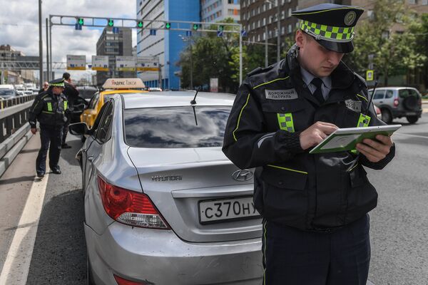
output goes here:
[{"label": "distant grey-brown tower block above the yellow taxi, left of blue building", "polygon": [[113,33],[112,27],[104,28],[96,43],[96,55],[108,56],[108,71],[96,73],[98,85],[103,85],[107,78],[136,77],[136,73],[132,71],[116,71],[116,56],[133,55],[131,28],[118,28],[118,33]]}]

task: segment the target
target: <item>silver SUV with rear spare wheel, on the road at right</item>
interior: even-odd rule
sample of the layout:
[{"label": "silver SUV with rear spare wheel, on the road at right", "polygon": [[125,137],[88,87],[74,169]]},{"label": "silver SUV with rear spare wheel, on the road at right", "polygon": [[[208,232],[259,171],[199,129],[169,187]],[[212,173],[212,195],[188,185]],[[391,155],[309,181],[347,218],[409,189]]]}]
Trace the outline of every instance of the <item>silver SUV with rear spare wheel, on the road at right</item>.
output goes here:
[{"label": "silver SUV with rear spare wheel, on the road at right", "polygon": [[406,117],[409,123],[416,123],[422,115],[422,95],[412,87],[376,88],[373,103],[379,107],[382,120],[387,124],[402,117]]}]

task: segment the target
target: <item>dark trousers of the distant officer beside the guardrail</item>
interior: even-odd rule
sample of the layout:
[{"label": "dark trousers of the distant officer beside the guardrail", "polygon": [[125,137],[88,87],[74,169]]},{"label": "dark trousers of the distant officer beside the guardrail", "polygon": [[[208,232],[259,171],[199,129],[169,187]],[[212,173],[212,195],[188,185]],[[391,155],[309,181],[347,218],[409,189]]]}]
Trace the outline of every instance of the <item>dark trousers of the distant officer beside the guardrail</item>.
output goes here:
[{"label": "dark trousers of the distant officer beside the guardrail", "polygon": [[[45,174],[46,155],[49,150],[49,167],[51,170],[59,170],[58,160],[61,154],[62,126],[56,128],[40,128],[41,147],[36,159],[36,172]],[[49,146],[50,145],[50,146]]]}]

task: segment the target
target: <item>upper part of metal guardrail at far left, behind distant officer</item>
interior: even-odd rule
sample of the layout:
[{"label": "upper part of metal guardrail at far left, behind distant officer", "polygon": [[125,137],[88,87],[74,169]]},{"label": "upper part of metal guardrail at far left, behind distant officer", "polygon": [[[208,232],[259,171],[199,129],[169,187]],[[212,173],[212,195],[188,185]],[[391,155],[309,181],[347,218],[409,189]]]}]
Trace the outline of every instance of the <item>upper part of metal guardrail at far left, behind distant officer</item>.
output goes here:
[{"label": "upper part of metal guardrail at far left, behind distant officer", "polygon": [[[33,104],[34,96],[29,95],[26,97],[29,97],[29,100],[24,101],[24,103],[18,103],[20,101],[15,100],[15,102],[11,103],[17,103],[17,105],[11,105],[11,107],[0,110],[0,143],[13,135],[23,125],[28,125],[29,109]],[[14,99],[12,98],[12,100]]]}]

